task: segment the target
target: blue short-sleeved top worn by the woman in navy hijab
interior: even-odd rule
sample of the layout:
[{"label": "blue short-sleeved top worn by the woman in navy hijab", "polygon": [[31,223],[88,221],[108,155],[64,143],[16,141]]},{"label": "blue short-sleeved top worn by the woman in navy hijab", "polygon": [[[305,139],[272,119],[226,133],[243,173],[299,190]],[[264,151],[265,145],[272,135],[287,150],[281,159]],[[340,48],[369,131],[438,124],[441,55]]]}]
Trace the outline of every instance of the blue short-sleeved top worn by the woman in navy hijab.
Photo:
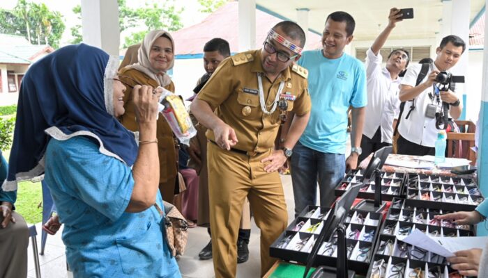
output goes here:
[{"label": "blue short-sleeved top worn by the woman in navy hijab", "polygon": [[[128,165],[82,136],[52,138],[45,181],[65,225],[66,260],[75,277],[181,277],[155,206],[126,213],[134,179]],[[158,191],[156,203],[161,209]]]}]

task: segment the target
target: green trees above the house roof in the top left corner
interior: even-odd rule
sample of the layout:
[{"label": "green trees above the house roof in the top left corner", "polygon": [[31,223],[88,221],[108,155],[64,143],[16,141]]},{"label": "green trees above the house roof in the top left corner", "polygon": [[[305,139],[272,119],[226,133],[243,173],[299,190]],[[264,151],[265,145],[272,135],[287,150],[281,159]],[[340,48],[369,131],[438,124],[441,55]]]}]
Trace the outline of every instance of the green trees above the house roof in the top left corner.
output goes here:
[{"label": "green trees above the house roof in the top left corner", "polygon": [[44,3],[19,0],[13,10],[0,9],[0,33],[23,35],[31,44],[58,48],[64,29],[63,16]]}]

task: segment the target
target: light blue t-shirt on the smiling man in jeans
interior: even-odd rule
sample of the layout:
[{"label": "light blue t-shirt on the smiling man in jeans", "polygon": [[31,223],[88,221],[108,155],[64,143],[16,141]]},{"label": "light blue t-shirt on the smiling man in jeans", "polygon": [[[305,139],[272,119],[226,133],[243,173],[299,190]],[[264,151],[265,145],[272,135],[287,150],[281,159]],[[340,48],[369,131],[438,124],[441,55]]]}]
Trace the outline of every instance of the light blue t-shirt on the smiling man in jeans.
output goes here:
[{"label": "light blue t-shirt on the smiling man in jeans", "polygon": [[312,111],[300,143],[319,152],[344,154],[347,140],[347,109],[367,104],[363,63],[347,54],[328,59],[321,50],[305,51],[298,65],[308,70]]}]

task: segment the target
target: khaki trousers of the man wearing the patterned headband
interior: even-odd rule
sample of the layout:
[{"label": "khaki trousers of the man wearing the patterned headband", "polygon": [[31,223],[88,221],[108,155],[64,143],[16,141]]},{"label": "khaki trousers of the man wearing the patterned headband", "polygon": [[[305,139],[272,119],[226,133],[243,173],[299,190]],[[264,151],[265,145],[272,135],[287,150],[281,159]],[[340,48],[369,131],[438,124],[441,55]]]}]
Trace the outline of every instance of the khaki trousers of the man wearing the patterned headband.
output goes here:
[{"label": "khaki trousers of the man wearing the patterned headband", "polygon": [[245,197],[249,199],[254,221],[261,229],[261,276],[275,259],[269,256],[270,245],[286,229],[287,204],[277,172],[266,173],[261,160],[271,150],[247,156],[207,144],[212,230],[213,268],[215,277],[236,277],[238,228]]}]

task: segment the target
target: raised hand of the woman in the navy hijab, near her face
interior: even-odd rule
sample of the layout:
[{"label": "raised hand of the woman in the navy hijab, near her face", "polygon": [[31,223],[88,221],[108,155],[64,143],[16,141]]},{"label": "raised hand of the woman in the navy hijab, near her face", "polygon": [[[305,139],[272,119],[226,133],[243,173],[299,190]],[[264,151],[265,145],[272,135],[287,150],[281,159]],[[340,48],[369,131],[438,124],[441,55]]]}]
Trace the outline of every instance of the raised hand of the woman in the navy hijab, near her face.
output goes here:
[{"label": "raised hand of the woman in the navy hijab, near her face", "polygon": [[137,122],[139,124],[155,122],[158,117],[158,99],[161,91],[153,90],[148,85],[135,85],[132,95]]}]

